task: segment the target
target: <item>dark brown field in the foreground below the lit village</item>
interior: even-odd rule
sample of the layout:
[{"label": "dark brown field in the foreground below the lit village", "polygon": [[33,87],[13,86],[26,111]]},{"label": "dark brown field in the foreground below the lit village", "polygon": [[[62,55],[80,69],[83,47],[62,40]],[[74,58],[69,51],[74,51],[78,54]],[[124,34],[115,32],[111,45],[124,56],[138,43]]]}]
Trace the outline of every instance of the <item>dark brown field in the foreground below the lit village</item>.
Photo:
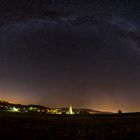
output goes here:
[{"label": "dark brown field in the foreground below the lit village", "polygon": [[61,116],[0,112],[0,137],[10,140],[140,140],[140,114]]}]

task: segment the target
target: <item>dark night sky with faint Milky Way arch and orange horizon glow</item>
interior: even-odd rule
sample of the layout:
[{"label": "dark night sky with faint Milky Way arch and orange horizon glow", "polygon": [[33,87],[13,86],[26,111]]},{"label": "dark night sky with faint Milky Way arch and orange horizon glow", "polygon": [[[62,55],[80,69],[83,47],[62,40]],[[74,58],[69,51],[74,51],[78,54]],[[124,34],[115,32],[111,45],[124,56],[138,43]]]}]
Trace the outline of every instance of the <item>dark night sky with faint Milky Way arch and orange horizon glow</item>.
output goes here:
[{"label": "dark night sky with faint Milky Way arch and orange horizon glow", "polygon": [[138,0],[1,0],[0,99],[140,111],[139,7]]}]

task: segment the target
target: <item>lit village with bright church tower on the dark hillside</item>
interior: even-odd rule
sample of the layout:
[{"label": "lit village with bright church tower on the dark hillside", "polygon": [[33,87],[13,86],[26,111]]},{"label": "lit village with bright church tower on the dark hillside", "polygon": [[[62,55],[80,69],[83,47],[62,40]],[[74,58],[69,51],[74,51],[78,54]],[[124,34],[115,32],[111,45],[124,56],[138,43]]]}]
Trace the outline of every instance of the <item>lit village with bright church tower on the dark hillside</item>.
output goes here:
[{"label": "lit village with bright church tower on the dark hillside", "polygon": [[73,109],[71,104],[67,108],[48,108],[41,105],[22,105],[6,101],[0,101],[0,111],[17,112],[17,113],[21,112],[21,113],[63,114],[63,115],[99,113],[91,109]]}]

